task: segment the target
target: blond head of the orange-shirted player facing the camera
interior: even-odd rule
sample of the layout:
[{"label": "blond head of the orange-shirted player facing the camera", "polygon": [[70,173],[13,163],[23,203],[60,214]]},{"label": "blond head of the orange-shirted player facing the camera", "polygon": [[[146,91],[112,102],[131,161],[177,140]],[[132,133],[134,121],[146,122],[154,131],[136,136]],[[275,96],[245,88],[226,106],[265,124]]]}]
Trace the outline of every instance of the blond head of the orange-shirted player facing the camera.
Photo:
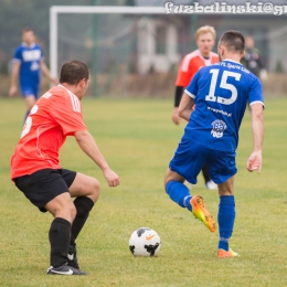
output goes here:
[{"label": "blond head of the orange-shirted player facing the camera", "polygon": [[195,41],[203,56],[209,56],[214,46],[216,32],[211,25],[203,25],[196,30]]}]

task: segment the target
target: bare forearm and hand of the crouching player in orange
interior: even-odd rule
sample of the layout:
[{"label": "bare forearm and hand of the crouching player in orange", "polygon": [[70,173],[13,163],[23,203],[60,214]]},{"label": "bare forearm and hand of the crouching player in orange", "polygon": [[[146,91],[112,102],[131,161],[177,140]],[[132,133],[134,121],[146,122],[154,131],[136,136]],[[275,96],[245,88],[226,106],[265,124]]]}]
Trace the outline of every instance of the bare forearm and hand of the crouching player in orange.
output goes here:
[{"label": "bare forearm and hand of the crouching player in orange", "polygon": [[119,177],[109,168],[92,135],[87,130],[79,130],[74,136],[82,150],[102,169],[108,185],[117,187]]}]

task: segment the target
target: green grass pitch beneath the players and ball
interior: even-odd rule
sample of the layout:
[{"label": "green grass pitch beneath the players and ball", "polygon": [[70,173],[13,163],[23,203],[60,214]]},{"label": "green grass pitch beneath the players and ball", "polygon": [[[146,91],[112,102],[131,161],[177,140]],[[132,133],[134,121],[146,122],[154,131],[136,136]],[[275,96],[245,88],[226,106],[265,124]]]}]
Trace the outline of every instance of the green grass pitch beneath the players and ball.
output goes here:
[{"label": "green grass pitch beneath the players and ball", "polygon": [[[22,99],[1,99],[0,286],[287,286],[287,98],[266,99],[262,174],[245,169],[252,151],[251,116],[241,129],[235,179],[236,222],[231,247],[241,254],[217,259],[213,234],[163,190],[163,176],[183,131],[171,123],[171,99],[84,99],[86,125],[121,184],[107,187],[100,170],[68,138],[62,167],[94,176],[99,201],[77,240],[88,276],[47,276],[50,214],[42,214],[10,181],[9,161],[21,134]],[[215,216],[219,196],[202,176],[191,190]],[[138,227],[161,237],[158,257],[134,257],[128,248]]]}]

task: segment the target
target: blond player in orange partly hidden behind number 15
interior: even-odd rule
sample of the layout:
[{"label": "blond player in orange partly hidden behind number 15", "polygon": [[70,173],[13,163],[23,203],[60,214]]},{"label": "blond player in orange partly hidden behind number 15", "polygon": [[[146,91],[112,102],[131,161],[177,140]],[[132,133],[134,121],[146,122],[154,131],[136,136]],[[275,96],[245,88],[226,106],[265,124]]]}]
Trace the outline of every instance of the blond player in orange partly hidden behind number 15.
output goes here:
[{"label": "blond player in orange partly hidden behind number 15", "polygon": [[[189,85],[201,67],[219,62],[217,54],[212,52],[215,44],[215,38],[216,33],[213,26],[204,25],[199,28],[195,33],[196,45],[199,49],[187,54],[181,61],[176,82],[174,108],[172,111],[172,121],[176,125],[179,125],[180,123],[179,104],[184,88]],[[206,189],[217,189],[216,184],[210,178],[206,166],[203,166],[202,174]]]}]

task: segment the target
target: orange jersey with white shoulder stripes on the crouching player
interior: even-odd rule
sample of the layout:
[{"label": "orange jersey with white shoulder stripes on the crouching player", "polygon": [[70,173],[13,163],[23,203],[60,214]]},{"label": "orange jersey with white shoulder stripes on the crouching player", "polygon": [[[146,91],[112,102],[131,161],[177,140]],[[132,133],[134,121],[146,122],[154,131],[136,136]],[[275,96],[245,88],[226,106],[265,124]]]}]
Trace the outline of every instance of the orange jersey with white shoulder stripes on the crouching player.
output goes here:
[{"label": "orange jersey with white shoulder stripes on the crouching player", "polygon": [[66,136],[78,130],[87,130],[79,99],[62,85],[51,88],[26,118],[11,159],[11,178],[41,169],[61,169],[59,150]]}]

